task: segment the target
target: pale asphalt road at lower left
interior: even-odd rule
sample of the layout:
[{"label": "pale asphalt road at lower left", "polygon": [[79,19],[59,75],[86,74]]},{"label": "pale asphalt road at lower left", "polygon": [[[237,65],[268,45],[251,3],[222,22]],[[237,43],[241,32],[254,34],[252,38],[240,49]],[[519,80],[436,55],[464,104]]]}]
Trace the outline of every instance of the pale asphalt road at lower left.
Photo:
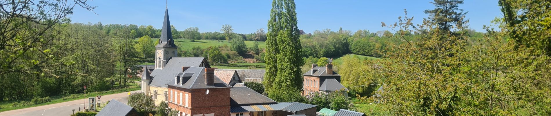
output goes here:
[{"label": "pale asphalt road at lower left", "polygon": [[[133,92],[139,92],[138,91],[131,91]],[[107,100],[115,99],[117,101],[120,101],[122,103],[128,102],[128,92],[123,93],[116,93],[112,95],[104,95],[101,96],[101,101],[104,102]],[[86,101],[86,103],[84,103]],[[30,107],[30,108],[24,108],[24,109],[16,109],[13,111],[6,111],[6,112],[0,112],[0,116],[8,116],[8,115],[46,115],[46,116],[57,116],[57,115],[71,115],[73,114],[73,109],[75,111],[78,111],[79,107],[80,109],[84,108],[84,104],[88,104],[88,98],[86,100],[80,99],[75,101],[69,101],[69,102],[63,102],[63,103],[56,103],[56,104],[48,104],[45,106],[37,106],[37,107]],[[88,106],[86,106],[88,107]]]}]

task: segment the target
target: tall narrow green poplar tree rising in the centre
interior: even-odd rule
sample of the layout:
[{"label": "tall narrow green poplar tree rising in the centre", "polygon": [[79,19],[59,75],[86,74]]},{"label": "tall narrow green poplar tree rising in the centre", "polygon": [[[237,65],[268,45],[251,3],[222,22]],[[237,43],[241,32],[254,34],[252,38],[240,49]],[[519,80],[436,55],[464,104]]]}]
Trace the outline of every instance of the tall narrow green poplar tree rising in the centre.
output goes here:
[{"label": "tall narrow green poplar tree rising in the centre", "polygon": [[264,84],[268,96],[276,101],[294,101],[302,90],[300,31],[296,23],[295,2],[274,0],[266,49]]}]

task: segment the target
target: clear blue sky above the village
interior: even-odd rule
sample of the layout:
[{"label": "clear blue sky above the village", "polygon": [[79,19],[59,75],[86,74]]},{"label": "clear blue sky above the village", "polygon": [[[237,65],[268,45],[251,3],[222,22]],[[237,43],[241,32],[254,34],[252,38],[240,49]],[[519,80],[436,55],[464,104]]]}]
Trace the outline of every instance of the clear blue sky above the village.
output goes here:
[{"label": "clear blue sky above the village", "polygon": [[[381,27],[381,21],[387,24],[395,23],[398,16],[403,16],[403,9],[408,10],[408,16],[414,16],[414,23],[419,24],[425,9],[434,9],[430,1],[314,1],[297,0],[296,12],[299,29],[306,33],[315,30],[389,30]],[[94,0],[90,5],[98,6],[94,13],[83,8],[75,8],[69,15],[73,23],[102,24],[135,24],[153,25],[160,28],[163,24],[165,1],[113,1]],[[257,29],[267,29],[269,11],[272,1],[168,1],[170,23],[177,30],[187,27],[198,27],[201,32],[220,31],[224,24],[230,24],[234,32],[249,34]],[[497,0],[465,0],[460,5],[467,13],[469,28],[483,31],[483,25],[490,25],[495,17],[501,17]]]}]

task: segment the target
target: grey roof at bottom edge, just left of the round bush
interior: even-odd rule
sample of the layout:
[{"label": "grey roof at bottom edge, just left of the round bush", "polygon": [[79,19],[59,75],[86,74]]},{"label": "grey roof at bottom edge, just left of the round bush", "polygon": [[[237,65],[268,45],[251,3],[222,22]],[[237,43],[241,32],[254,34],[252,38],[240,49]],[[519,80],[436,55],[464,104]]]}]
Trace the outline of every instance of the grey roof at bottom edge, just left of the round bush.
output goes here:
[{"label": "grey roof at bottom edge, just left of the round bush", "polygon": [[126,115],[130,112],[138,113],[136,109],[113,99],[96,116]]}]

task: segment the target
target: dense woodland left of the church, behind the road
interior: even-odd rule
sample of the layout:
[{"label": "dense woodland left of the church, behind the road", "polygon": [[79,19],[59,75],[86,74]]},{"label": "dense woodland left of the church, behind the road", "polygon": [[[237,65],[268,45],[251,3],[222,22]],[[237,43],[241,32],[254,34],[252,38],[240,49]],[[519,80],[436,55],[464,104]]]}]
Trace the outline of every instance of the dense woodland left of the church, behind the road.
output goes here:
[{"label": "dense woodland left of the church, behind the road", "polygon": [[136,78],[127,70],[136,64],[135,25],[70,23],[74,5],[95,8],[86,1],[31,2],[2,2],[9,10],[0,27],[9,29],[0,34],[0,101],[83,93],[85,85],[111,90]]}]

